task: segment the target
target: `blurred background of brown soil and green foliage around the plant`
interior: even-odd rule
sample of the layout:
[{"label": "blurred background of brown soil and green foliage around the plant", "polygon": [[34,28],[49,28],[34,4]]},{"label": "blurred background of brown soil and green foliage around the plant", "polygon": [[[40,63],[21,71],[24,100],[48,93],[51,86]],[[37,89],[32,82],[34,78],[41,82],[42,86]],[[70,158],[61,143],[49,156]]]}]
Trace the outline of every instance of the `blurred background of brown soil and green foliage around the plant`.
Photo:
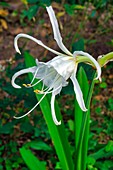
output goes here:
[{"label": "blurred background of brown soil and green foliage around the plant", "polygon": [[[96,59],[113,51],[112,0],[0,1],[0,170],[29,169],[20,152],[23,146],[46,164],[48,170],[61,169],[40,108],[23,119],[13,118],[26,113],[37,102],[32,89],[17,90],[11,85],[13,74],[25,68],[24,57],[15,52],[14,37],[26,33],[58,51],[45,9],[50,4],[57,16],[63,42],[70,51],[83,50]],[[19,48],[40,61],[54,57],[54,54],[24,38],[19,40]],[[17,83],[29,83],[28,76],[22,76]],[[68,138],[73,143],[74,93],[71,86],[64,89],[57,100]],[[97,81],[95,86],[91,113],[87,169],[112,170],[113,62],[102,69],[102,83]],[[95,154],[95,159],[92,160],[90,154]]]}]

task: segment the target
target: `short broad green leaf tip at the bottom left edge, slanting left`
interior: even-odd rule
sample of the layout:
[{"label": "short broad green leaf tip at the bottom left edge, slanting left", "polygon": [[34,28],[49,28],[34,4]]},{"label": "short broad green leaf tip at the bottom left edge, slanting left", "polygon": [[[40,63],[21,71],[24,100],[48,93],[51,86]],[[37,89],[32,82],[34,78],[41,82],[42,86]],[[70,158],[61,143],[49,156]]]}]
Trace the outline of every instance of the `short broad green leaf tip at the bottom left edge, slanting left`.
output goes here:
[{"label": "short broad green leaf tip at the bottom left edge, slanting left", "polygon": [[45,164],[39,161],[29,149],[20,148],[20,154],[30,170],[46,170]]}]

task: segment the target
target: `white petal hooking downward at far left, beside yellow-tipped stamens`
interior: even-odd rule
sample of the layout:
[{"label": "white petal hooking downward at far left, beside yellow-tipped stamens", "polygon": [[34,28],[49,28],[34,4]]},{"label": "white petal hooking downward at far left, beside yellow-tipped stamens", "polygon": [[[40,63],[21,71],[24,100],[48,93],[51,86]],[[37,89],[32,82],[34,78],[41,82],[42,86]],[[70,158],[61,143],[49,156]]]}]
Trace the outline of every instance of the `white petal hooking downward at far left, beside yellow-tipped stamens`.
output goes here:
[{"label": "white petal hooking downward at far left, beside yellow-tipped stamens", "polygon": [[16,79],[18,76],[22,75],[22,74],[25,74],[25,73],[33,73],[33,72],[35,72],[35,70],[36,70],[36,67],[34,66],[34,67],[31,67],[31,68],[23,69],[23,70],[20,70],[20,71],[16,72],[16,73],[13,75],[12,80],[11,80],[12,86],[15,87],[15,88],[21,88],[19,85],[17,85],[17,84],[15,83],[15,79]]}]

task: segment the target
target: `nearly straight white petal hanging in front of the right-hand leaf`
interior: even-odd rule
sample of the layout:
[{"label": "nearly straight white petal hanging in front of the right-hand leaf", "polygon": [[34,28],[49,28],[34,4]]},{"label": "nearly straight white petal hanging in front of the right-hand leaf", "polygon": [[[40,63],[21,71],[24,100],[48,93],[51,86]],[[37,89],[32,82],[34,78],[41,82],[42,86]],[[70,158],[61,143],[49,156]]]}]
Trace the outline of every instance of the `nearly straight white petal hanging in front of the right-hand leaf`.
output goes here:
[{"label": "nearly straight white petal hanging in front of the right-hand leaf", "polygon": [[78,102],[80,108],[81,108],[84,112],[86,112],[87,109],[86,109],[86,107],[85,107],[85,103],[84,103],[84,99],[83,99],[83,94],[82,94],[82,91],[81,91],[80,86],[79,86],[79,84],[78,84],[78,81],[77,81],[77,79],[76,79],[76,77],[75,77],[75,74],[73,74],[73,75],[70,77],[70,79],[72,80],[73,85],[74,85],[74,91],[75,91],[75,94],[76,94],[77,102]]}]

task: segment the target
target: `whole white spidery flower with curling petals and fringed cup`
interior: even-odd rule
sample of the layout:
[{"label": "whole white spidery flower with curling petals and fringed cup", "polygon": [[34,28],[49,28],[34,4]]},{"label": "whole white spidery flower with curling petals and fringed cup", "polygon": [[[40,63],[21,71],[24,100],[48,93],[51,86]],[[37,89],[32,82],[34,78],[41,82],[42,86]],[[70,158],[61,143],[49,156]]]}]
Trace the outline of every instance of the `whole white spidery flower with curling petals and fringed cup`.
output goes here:
[{"label": "whole white spidery flower with curling petals and fringed cup", "polygon": [[[33,74],[33,79],[30,84],[24,84],[27,88],[33,87],[37,85],[39,82],[42,81],[42,88],[39,90],[35,90],[36,93],[38,94],[43,94],[42,98],[40,101],[26,114],[20,117],[15,117],[17,119],[22,118],[26,115],[28,115],[30,112],[35,109],[39,103],[43,100],[43,98],[48,94],[51,93],[51,112],[52,112],[52,117],[54,120],[54,123],[56,125],[60,125],[61,121],[58,121],[56,118],[55,114],[55,108],[54,108],[54,102],[55,102],[55,96],[59,94],[62,90],[62,87],[65,87],[68,85],[68,79],[70,78],[73,86],[74,86],[74,92],[76,95],[76,100],[78,101],[78,104],[80,108],[85,112],[87,111],[87,108],[85,107],[84,99],[83,99],[83,94],[80,89],[80,86],[78,84],[78,81],[76,79],[76,72],[77,72],[77,67],[80,62],[85,62],[87,64],[90,64],[94,66],[97,69],[97,79],[100,78],[101,76],[101,68],[98,62],[88,53],[83,52],[83,51],[75,51],[74,53],[71,53],[63,44],[62,42],[62,37],[60,34],[59,26],[57,19],[55,17],[55,13],[52,9],[51,6],[46,7],[51,24],[52,24],[52,29],[53,29],[53,34],[54,34],[54,39],[56,40],[59,48],[63,51],[57,52],[46,45],[44,45],[40,40],[37,40],[36,38],[33,38],[30,35],[27,34],[18,34],[15,37],[14,40],[14,46],[15,49],[18,53],[20,53],[20,50],[18,48],[18,39],[23,37],[23,38],[28,38],[30,40],[33,40],[36,42],[38,45],[44,47],[45,49],[51,51],[52,53],[56,54],[56,57],[53,58],[52,60],[44,63],[44,62],[39,62],[36,59],[36,66],[23,69],[18,71],[17,73],[14,74],[12,77],[12,85],[15,88],[21,88],[19,85],[15,83],[15,79],[25,73],[32,73]],[[34,80],[37,79],[37,82],[34,83]],[[85,87],[84,87],[85,88]]]}]

